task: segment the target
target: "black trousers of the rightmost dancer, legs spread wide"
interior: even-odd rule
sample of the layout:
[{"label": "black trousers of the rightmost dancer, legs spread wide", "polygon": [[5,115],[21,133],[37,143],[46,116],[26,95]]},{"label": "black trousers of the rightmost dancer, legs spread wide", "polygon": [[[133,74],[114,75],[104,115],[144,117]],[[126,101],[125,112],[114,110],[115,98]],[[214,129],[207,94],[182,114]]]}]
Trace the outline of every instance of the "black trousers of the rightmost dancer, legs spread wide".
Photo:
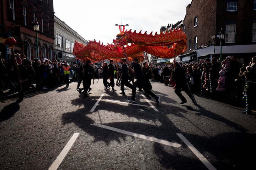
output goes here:
[{"label": "black trousers of the rightmost dancer, legs spread wide", "polygon": [[194,95],[190,91],[190,87],[188,86],[188,83],[182,83],[182,84],[176,84],[174,92],[178,97],[180,97],[182,102],[186,102],[186,98],[181,94],[181,89],[186,92],[186,94],[191,98],[193,103],[196,103],[196,100],[194,99]]}]

